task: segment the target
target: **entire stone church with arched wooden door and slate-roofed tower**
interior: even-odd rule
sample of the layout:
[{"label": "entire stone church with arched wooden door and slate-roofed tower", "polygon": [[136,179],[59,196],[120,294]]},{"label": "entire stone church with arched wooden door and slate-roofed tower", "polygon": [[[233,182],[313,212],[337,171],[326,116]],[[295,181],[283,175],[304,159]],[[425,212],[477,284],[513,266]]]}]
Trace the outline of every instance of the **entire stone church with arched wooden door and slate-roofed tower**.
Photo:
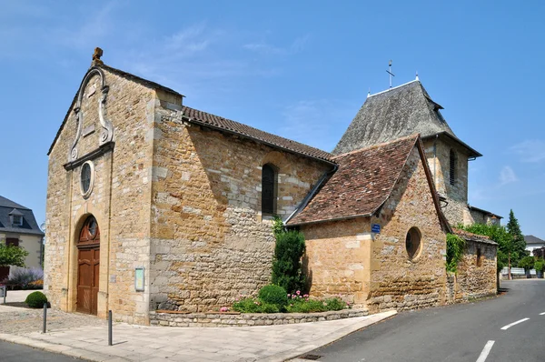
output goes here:
[{"label": "entire stone church with arched wooden door and slate-roofed tower", "polygon": [[[54,307],[149,324],[156,309],[228,306],[269,282],[274,215],[307,238],[312,295],[372,311],[441,305],[445,233],[499,218],[468,206],[467,163],[481,155],[418,80],[369,96],[330,154],[185,106],[101,55],[48,152]],[[477,294],[490,294],[495,246],[475,243]]]}]

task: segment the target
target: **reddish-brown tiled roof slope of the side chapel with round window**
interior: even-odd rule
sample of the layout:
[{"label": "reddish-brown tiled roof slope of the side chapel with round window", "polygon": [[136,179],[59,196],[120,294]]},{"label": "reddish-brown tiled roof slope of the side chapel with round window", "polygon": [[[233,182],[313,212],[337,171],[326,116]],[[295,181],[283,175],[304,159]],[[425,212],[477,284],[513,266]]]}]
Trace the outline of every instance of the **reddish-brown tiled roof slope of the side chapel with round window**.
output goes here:
[{"label": "reddish-brown tiled roof slope of the side chapel with round window", "polygon": [[419,136],[333,158],[339,169],[288,225],[371,216],[390,197]]}]

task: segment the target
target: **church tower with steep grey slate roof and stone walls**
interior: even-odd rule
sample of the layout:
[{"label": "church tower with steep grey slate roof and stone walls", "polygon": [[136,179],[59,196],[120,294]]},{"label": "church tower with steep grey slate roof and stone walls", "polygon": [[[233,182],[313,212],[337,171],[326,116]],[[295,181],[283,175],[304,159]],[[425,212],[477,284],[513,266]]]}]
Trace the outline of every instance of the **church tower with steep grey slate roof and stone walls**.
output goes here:
[{"label": "church tower with steep grey slate roof and stone walls", "polygon": [[482,155],[454,134],[441,109],[418,77],[369,95],[332,153],[340,155],[418,133],[441,209],[451,225],[500,225],[501,216],[468,205],[468,162]]}]

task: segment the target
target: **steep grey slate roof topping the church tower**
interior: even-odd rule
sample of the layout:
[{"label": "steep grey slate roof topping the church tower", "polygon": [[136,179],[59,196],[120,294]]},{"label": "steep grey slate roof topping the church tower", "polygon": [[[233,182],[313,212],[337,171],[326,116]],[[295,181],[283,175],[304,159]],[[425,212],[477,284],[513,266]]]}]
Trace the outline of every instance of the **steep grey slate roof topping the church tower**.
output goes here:
[{"label": "steep grey slate roof topping the church tower", "polygon": [[332,154],[340,155],[419,133],[421,138],[448,136],[467,148],[470,156],[482,156],[452,132],[441,109],[419,80],[368,96]]}]

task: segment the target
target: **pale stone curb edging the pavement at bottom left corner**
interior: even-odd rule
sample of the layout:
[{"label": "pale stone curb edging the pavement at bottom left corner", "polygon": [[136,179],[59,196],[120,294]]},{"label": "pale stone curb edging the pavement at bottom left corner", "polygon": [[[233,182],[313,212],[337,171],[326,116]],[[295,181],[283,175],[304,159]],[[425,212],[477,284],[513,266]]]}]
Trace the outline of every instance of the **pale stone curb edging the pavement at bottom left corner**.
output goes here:
[{"label": "pale stone curb edging the pavement at bottom left corner", "polygon": [[94,361],[94,362],[105,362],[105,361],[114,361],[114,360],[128,361],[128,359],[124,359],[117,356],[104,355],[98,352],[44,342],[41,340],[29,338],[29,337],[0,333],[0,339],[6,342],[15,343],[17,345],[23,345],[27,347],[33,347],[36,349],[42,349],[51,353],[60,353],[61,355],[64,355],[64,356],[76,357],[76,358],[84,359],[86,361]]}]

